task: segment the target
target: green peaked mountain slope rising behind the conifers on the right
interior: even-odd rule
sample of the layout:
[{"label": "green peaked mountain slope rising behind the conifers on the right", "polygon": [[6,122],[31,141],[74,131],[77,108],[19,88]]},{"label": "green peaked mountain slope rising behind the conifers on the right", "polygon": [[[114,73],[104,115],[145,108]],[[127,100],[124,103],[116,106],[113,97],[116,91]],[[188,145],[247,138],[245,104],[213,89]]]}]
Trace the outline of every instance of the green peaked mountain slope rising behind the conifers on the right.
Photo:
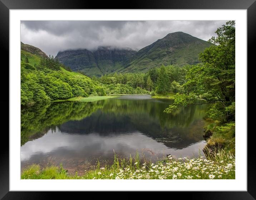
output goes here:
[{"label": "green peaked mountain slope rising behind the conifers on the right", "polygon": [[139,50],[120,72],[146,72],[161,65],[194,65],[199,62],[198,54],[210,45],[189,34],[174,32]]}]

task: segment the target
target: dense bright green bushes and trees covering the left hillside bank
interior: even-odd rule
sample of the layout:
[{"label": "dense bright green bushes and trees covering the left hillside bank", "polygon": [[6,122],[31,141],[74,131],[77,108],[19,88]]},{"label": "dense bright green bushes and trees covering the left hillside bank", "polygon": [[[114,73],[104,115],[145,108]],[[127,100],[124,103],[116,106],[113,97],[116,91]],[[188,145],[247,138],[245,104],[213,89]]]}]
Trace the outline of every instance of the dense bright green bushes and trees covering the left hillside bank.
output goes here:
[{"label": "dense bright green bushes and trees covering the left hillside bank", "polygon": [[90,94],[106,95],[104,87],[97,81],[64,70],[61,66],[53,56],[41,58],[40,62],[37,60],[34,66],[21,61],[21,106],[46,104],[55,99],[88,97]]}]

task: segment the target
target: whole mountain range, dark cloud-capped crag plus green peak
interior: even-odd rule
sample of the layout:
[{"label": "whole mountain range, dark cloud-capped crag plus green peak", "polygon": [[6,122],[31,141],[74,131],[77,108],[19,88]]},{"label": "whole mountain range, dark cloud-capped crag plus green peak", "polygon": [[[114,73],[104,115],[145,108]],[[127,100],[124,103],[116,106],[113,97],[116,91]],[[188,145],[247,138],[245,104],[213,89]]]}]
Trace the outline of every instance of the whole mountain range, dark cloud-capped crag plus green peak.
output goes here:
[{"label": "whole mountain range, dark cloud-capped crag plus green peak", "polygon": [[138,52],[131,49],[99,47],[58,52],[56,58],[73,71],[101,76],[112,72],[147,72],[161,65],[194,65],[198,54],[212,44],[183,32],[174,32]]}]

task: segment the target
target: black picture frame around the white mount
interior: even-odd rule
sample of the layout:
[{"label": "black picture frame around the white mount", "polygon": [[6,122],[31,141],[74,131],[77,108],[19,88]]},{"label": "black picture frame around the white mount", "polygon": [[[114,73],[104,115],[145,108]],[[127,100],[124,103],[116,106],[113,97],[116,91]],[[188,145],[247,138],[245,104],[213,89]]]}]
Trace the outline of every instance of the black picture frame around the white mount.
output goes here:
[{"label": "black picture frame around the white mount", "polygon": [[[123,6],[121,6],[123,5]],[[125,6],[125,7],[124,7]],[[117,4],[115,1],[103,1],[99,4],[96,1],[79,1],[79,0],[0,0],[0,41],[1,71],[4,78],[1,78],[1,91],[5,98],[1,98],[1,104],[4,105],[1,109],[4,114],[9,110],[9,88],[6,86],[9,82],[9,10],[10,9],[246,9],[247,10],[247,105],[250,109],[247,111],[247,191],[187,191],[187,192],[172,192],[170,198],[176,196],[179,199],[206,199],[206,200],[253,200],[256,199],[256,162],[253,145],[253,131],[251,124],[255,123],[255,103],[253,94],[253,72],[252,69],[255,57],[255,36],[256,36],[256,2],[255,0],[151,0],[151,1],[127,1],[124,4]],[[3,76],[3,75],[2,75]],[[251,77],[250,77],[251,76]],[[7,111],[8,110],[8,111]],[[2,124],[9,122],[9,117],[4,117],[1,120]],[[250,131],[251,127],[251,131]],[[9,132],[9,130],[8,130]],[[237,133],[243,134],[243,133]],[[246,134],[246,133],[244,133]],[[66,198],[78,199],[83,192],[29,192],[29,191],[9,191],[9,135],[2,132],[2,141],[5,145],[1,145],[1,164],[0,164],[0,199],[53,199],[53,195],[65,195]],[[200,188],[200,186],[199,186]],[[209,188],[211,190],[211,188]],[[92,194],[93,195],[93,194]],[[98,195],[98,194],[97,194]],[[85,198],[85,196],[84,196]]]}]

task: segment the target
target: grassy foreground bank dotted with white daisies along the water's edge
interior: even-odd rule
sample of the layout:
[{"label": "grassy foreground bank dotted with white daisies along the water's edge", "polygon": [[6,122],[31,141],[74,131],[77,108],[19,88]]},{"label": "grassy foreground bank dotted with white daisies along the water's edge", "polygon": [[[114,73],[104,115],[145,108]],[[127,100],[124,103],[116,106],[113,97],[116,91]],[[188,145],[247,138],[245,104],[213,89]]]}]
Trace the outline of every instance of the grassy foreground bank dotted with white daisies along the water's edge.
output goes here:
[{"label": "grassy foreground bank dotted with white daisies along the water's edge", "polygon": [[68,174],[62,165],[40,169],[31,165],[21,174],[21,179],[235,179],[235,157],[224,151],[214,159],[198,157],[174,160],[169,155],[157,163],[140,163],[139,155],[119,159],[114,155],[113,165],[101,166],[85,171],[79,176]]}]

